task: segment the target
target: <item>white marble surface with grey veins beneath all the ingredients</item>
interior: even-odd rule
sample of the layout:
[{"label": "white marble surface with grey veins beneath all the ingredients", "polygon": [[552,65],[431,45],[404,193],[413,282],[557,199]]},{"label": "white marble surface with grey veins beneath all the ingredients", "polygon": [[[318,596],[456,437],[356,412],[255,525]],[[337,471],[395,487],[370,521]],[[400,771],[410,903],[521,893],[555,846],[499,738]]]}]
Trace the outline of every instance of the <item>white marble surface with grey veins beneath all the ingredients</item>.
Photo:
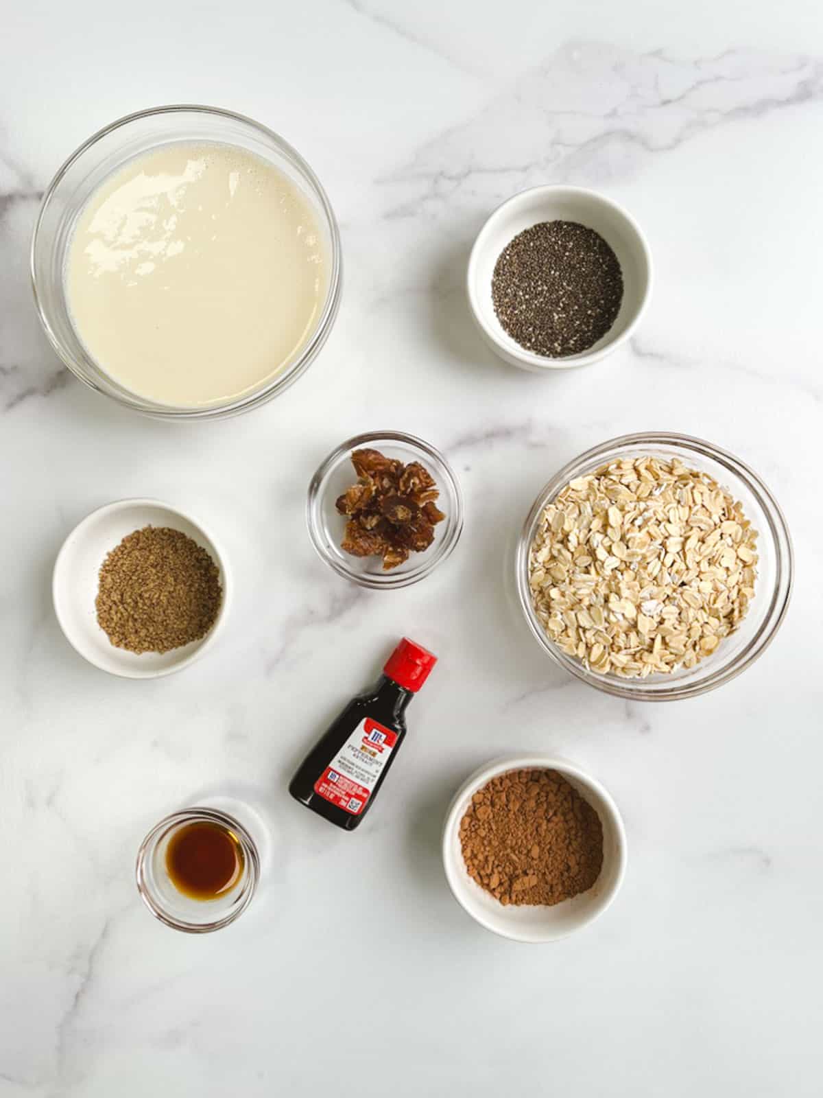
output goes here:
[{"label": "white marble surface with grey veins beneath all the ingredients", "polygon": [[[1,16],[0,1095],[819,1095],[819,3],[121,7]],[[59,368],[26,274],[64,157],[173,101],[292,141],[346,255],[308,374],[250,416],[177,428]],[[462,290],[487,212],[544,181],[623,202],[657,265],[631,346],[548,380],[484,349]],[[384,426],[446,450],[466,529],[426,583],[365,594],[314,557],[303,504],[334,445]],[[503,560],[561,462],[651,428],[753,464],[798,575],[754,670],[640,707],[545,664]],[[158,682],[84,664],[50,606],[68,529],[127,495],[202,515],[237,576],[219,646]],[[285,785],[404,631],[441,663],[380,803],[343,834]],[[554,946],[486,933],[441,873],[451,792],[511,750],[588,766],[628,827],[619,899]],[[135,849],[221,783],[268,798],[268,886],[228,930],[176,934],[138,900]]]}]

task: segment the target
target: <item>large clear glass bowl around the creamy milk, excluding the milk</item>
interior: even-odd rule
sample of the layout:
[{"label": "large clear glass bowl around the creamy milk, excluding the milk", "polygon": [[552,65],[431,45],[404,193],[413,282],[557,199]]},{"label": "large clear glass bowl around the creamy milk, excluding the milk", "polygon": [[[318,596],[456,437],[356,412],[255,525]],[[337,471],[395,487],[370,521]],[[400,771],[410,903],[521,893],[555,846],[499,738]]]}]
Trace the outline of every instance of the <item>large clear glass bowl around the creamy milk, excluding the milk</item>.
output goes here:
[{"label": "large clear glass bowl around the creamy milk, excluding the milk", "polygon": [[[314,330],[283,369],[258,389],[222,404],[160,404],[120,385],[88,354],[71,322],[64,285],[67,249],[93,191],[127,160],[178,142],[216,142],[253,153],[279,168],[311,203],[329,256],[326,301]],[[282,137],[216,107],[157,107],[128,114],[93,134],[52,180],[34,226],[31,251],[34,298],[52,346],[68,369],[98,392],[135,412],[165,419],[216,419],[264,404],[305,372],[331,330],[340,304],[340,235],[326,192],[309,166]]]}]

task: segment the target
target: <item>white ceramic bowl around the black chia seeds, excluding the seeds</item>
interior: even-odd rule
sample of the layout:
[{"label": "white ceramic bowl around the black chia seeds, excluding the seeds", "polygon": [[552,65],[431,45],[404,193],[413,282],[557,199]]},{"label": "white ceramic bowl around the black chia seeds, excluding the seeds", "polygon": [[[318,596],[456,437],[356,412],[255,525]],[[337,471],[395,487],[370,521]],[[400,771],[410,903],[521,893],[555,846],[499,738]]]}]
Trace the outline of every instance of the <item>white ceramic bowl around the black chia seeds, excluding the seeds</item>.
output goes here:
[{"label": "white ceramic bowl around the black chia seeds, excluding the seeds", "polygon": [[[492,302],[492,276],[507,244],[543,221],[576,221],[609,244],[623,274],[623,301],[602,338],[579,355],[549,358],[526,350],[508,335]],[[469,258],[469,304],[480,333],[500,358],[534,373],[588,366],[625,343],[640,323],[652,292],[652,254],[638,223],[611,199],[583,187],[534,187],[499,205],[474,242]]]}]

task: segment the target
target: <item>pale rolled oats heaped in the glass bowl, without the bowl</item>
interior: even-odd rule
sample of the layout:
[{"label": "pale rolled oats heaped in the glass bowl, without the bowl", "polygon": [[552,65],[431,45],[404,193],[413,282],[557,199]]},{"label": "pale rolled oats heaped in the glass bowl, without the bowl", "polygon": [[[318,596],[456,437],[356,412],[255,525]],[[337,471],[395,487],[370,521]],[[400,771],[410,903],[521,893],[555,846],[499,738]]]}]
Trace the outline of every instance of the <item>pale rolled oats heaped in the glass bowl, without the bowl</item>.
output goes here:
[{"label": "pale rolled oats heaped in the glass bowl, without the bowl", "polygon": [[694,668],[754,598],[757,531],[708,473],[624,458],[575,478],[543,509],[529,552],[546,635],[601,674]]}]

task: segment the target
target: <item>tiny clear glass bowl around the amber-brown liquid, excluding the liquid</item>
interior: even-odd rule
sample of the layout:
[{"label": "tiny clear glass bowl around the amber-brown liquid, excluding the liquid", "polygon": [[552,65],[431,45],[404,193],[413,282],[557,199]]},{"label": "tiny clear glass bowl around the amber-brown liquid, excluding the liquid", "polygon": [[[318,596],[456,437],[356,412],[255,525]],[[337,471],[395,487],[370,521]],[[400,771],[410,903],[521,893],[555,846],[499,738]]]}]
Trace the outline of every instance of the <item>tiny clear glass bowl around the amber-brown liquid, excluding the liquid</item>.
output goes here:
[{"label": "tiny clear glass bowl around the amber-brown liquid, excluding the liquid", "polygon": [[[184,896],[171,883],[166,869],[166,851],[171,837],[189,824],[216,824],[232,831],[240,844],[244,867],[230,889],[215,899]],[[227,813],[215,808],[184,808],[151,828],[137,851],[137,890],[151,915],[173,930],[206,934],[234,922],[251,903],[260,879],[260,855],[246,828]]]}]

